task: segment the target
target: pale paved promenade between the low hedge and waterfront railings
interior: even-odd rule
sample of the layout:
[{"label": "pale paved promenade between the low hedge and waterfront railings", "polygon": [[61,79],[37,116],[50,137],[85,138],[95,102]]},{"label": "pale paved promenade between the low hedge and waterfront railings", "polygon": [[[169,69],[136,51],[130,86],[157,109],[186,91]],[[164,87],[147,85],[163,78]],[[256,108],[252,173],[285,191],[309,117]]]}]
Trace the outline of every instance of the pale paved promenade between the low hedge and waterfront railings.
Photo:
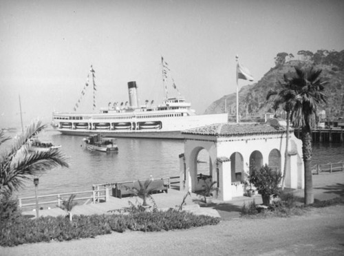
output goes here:
[{"label": "pale paved promenade between the low hedge and waterfront railings", "polygon": [[[313,192],[314,200],[328,200],[339,196],[344,196],[344,172],[338,173],[321,173],[320,175],[313,175]],[[297,195],[301,200],[303,198],[303,190],[293,191],[294,195]],[[175,189],[169,189],[168,193],[158,193],[153,195],[155,204],[159,209],[177,208],[182,204],[185,193],[177,191]],[[252,198],[238,197],[233,198],[231,201],[220,202],[213,200],[213,204],[200,204],[201,196],[192,193],[191,196],[186,198],[186,211],[191,211],[195,214],[211,215],[213,217],[222,217],[224,220],[233,219],[239,217],[241,206],[244,203],[255,200],[257,204],[261,204],[261,196],[255,195]],[[136,200],[142,203],[142,200],[137,197],[129,198],[114,198],[110,197],[109,202],[103,202],[98,204],[85,204],[74,206],[72,213],[74,215],[92,215],[109,213],[114,210],[124,209],[129,207],[129,201],[136,204]],[[153,203],[149,201],[149,204]],[[44,209],[41,210],[40,216],[58,216],[65,215],[65,211],[59,208]],[[23,212],[23,215],[29,215],[34,217],[34,211]]]}]

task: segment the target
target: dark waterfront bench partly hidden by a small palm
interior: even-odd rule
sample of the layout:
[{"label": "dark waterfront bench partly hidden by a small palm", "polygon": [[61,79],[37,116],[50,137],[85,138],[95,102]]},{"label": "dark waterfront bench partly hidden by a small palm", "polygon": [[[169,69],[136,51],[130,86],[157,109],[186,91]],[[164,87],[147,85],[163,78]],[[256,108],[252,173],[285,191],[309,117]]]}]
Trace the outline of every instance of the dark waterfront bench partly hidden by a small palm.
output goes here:
[{"label": "dark waterfront bench partly hidden by a small palm", "polygon": [[[140,180],[140,182],[143,185],[145,181]],[[167,193],[167,189],[169,189],[169,183],[164,179],[152,180],[148,188],[151,190],[151,193]],[[116,183],[115,187],[112,189],[112,196],[115,198],[133,196],[138,193],[139,190],[140,184],[138,181]]]}]

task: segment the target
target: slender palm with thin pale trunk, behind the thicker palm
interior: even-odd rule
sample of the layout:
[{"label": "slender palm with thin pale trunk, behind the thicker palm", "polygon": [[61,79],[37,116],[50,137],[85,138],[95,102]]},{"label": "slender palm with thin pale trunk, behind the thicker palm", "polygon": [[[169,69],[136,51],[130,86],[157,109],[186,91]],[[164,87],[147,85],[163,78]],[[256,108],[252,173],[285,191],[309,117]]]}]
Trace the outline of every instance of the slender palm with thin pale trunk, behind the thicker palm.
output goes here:
[{"label": "slender palm with thin pale trunk, behind the thicker palm", "polygon": [[275,96],[272,101],[272,108],[277,111],[279,107],[282,107],[286,111],[286,151],[284,153],[284,167],[282,176],[282,190],[286,185],[286,171],[288,166],[288,145],[289,145],[289,133],[290,133],[290,113],[295,103],[297,93],[294,89],[294,85],[290,83],[290,79],[284,74],[283,82],[279,81],[279,88],[277,91],[269,91],[266,96],[266,100],[270,100],[271,96]]}]

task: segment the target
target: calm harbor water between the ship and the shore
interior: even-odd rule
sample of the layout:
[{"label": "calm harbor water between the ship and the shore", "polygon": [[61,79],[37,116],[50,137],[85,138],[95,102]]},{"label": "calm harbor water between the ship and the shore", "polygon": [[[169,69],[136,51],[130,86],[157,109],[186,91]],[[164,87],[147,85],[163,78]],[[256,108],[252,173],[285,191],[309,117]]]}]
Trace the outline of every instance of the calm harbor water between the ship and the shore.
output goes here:
[{"label": "calm harbor water between the ship and the shore", "polygon": [[[15,136],[10,133],[10,136]],[[184,152],[183,140],[118,138],[118,153],[88,151],[82,136],[63,136],[57,131],[39,134],[43,141],[62,145],[69,168],[57,167],[39,177],[39,194],[92,190],[92,184],[144,180],[179,175],[178,155]],[[315,144],[312,165],[344,160],[344,145]],[[204,151],[206,152],[206,151]],[[199,169],[208,169],[208,154],[200,153]],[[25,183],[19,197],[34,195],[32,180]]]}]

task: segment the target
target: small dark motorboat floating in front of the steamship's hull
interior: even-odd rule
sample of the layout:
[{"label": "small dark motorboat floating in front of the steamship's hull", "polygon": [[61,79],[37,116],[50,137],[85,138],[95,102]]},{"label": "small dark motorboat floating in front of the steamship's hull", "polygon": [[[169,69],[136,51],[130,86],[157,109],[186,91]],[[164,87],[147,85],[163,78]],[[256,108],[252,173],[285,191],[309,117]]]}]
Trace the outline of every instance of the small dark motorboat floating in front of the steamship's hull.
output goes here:
[{"label": "small dark motorboat floating in front of the steamship's hull", "polygon": [[102,137],[100,134],[90,135],[84,138],[85,146],[87,149],[102,152],[118,151],[117,139]]}]

